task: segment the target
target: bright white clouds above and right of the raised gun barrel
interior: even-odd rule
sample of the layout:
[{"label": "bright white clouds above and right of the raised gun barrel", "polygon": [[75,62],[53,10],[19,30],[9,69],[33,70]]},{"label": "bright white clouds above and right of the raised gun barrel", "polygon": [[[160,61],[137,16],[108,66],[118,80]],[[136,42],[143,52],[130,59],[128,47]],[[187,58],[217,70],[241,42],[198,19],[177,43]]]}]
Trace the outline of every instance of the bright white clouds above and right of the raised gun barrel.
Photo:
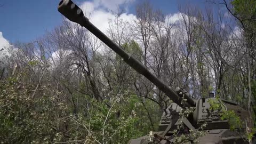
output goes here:
[{"label": "bright white clouds above and right of the raised gun barrel", "polygon": [[[114,22],[116,15],[113,12],[117,12],[118,7],[124,4],[132,3],[134,0],[93,0],[90,2],[83,2],[79,7],[83,10],[85,16],[90,19],[90,22],[100,29],[103,33],[107,34],[109,27],[113,26],[111,22]],[[175,25],[172,28],[172,34],[180,29],[182,25],[182,14],[183,13],[174,13],[166,16],[165,24]],[[124,12],[119,15],[118,19],[122,19],[124,22],[134,22],[137,20],[136,16],[131,13]],[[185,19],[188,19],[185,15]],[[132,32],[130,28],[126,28],[128,31],[125,31],[125,34]],[[130,30],[130,31],[129,31]],[[137,41],[137,39],[134,39]],[[102,49],[105,47],[102,45],[99,52],[102,52]]]}]

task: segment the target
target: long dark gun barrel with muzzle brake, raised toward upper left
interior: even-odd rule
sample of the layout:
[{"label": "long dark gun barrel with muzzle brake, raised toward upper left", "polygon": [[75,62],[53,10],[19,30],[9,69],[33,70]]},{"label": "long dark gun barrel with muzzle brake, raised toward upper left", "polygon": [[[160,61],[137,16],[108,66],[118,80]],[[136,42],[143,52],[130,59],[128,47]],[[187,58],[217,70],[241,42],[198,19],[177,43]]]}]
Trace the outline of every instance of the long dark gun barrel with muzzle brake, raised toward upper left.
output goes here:
[{"label": "long dark gun barrel with muzzle brake, raised toward upper left", "polygon": [[131,54],[126,53],[121,47],[111,41],[105,34],[103,34],[97,27],[92,25],[92,23],[84,16],[83,11],[72,1],[70,0],[62,0],[59,3],[58,11],[63,14],[70,21],[76,22],[82,27],[85,27],[87,30],[91,31],[91,33],[97,36],[103,43],[110,47],[113,51],[115,51],[120,57],[124,59],[124,61],[130,65],[133,69],[135,69],[139,74],[145,76],[149,79],[150,82],[155,84],[159,90],[164,92],[173,102],[177,103],[180,107],[195,107],[196,103],[188,97],[187,94],[184,94],[185,99],[187,101],[181,103],[182,97],[180,97],[173,89],[164,84],[160,79],[158,79],[155,75],[151,74],[150,71],[142,65],[137,59],[135,59]]}]

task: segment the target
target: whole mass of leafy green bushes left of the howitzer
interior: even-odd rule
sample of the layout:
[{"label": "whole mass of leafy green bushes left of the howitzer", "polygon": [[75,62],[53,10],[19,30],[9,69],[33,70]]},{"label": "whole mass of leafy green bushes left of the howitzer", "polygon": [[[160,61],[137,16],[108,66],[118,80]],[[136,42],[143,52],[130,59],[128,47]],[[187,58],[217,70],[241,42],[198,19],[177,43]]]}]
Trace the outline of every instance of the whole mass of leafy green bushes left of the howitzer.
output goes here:
[{"label": "whole mass of leafy green bushes left of the howitzer", "polygon": [[95,101],[74,93],[72,97],[82,102],[75,114],[65,99],[68,94],[49,83],[41,83],[35,92],[35,85],[21,81],[25,78],[18,74],[0,81],[2,143],[127,143],[150,130],[147,117],[138,117],[145,108],[137,95],[126,92],[113,100]]}]

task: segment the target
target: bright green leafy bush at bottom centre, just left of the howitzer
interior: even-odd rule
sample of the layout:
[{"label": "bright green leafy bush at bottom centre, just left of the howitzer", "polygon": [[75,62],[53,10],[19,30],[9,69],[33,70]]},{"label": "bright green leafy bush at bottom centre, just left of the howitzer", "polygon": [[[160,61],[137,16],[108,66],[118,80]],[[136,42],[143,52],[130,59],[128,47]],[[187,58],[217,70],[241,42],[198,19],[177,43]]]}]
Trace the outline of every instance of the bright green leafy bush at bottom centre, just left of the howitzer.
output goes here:
[{"label": "bright green leafy bush at bottom centre, just left of the howitzer", "polygon": [[94,139],[108,141],[108,143],[125,143],[138,134],[143,134],[135,127],[139,118],[131,114],[135,103],[127,101],[125,105],[121,106],[114,102],[109,108],[106,106],[106,102],[97,102],[91,99],[92,107],[89,109],[89,116],[78,115],[77,121],[83,126],[89,127]]}]

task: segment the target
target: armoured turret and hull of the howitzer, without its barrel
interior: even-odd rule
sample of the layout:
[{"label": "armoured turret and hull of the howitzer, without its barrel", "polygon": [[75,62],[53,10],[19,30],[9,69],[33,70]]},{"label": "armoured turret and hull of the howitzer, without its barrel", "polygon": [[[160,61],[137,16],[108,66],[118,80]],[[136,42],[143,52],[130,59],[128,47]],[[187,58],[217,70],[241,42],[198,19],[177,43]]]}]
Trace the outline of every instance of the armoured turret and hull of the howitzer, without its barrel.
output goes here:
[{"label": "armoured turret and hull of the howitzer, without its barrel", "polygon": [[[201,137],[196,140],[198,143],[249,143],[245,138],[246,129],[251,126],[251,121],[249,119],[248,111],[244,110],[242,107],[238,106],[237,103],[233,101],[221,100],[226,110],[234,111],[237,116],[244,122],[242,125],[235,127],[233,131],[230,130],[230,125],[227,119],[221,119],[220,115],[222,110],[217,111],[207,111],[210,108],[210,103],[207,102],[209,99],[199,99],[196,101],[197,105],[193,112],[193,118],[190,117],[188,121],[181,121],[185,127],[189,130],[204,133]],[[142,143],[175,143],[174,138],[180,137],[181,134],[185,137],[189,137],[189,132],[181,130],[179,135],[174,136],[174,130],[177,129],[179,122],[176,114],[180,113],[179,106],[172,103],[163,113],[161,122],[159,123],[158,130],[151,135],[145,135],[137,139],[132,139],[130,144],[142,144]],[[170,111],[170,112],[169,112]],[[206,124],[204,130],[200,130],[199,127],[202,124]],[[193,139],[187,139],[184,143],[193,143]],[[191,142],[190,142],[191,141]]]}]

